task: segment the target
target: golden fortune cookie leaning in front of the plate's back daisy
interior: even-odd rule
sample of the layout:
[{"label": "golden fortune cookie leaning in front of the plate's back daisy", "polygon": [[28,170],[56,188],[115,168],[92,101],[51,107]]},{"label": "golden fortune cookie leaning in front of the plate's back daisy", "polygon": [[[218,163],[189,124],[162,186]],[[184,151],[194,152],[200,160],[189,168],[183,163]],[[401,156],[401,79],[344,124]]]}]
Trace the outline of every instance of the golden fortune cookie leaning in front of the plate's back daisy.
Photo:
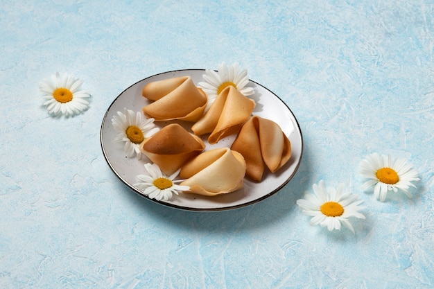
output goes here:
[{"label": "golden fortune cookie leaning in front of the plate's back daisy", "polygon": [[238,89],[229,85],[218,94],[214,103],[191,130],[194,134],[209,134],[208,142],[217,143],[220,139],[238,132],[250,118],[256,103],[245,97]]}]

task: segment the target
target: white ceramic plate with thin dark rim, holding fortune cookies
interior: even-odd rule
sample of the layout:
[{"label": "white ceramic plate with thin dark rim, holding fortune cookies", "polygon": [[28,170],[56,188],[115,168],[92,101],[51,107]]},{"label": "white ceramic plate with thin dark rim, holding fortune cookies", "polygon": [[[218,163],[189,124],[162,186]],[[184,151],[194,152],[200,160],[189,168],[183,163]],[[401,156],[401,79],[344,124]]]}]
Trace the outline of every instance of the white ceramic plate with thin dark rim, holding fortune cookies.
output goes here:
[{"label": "white ceramic plate with thin dark rim, holding fortune cookies", "polygon": [[[205,69],[186,69],[177,71],[168,71],[159,73],[155,76],[150,76],[144,80],[140,80],[134,85],[125,89],[113,101],[105,113],[103,123],[101,125],[101,147],[108,165],[112,168],[114,174],[121,179],[132,191],[139,195],[148,198],[134,187],[137,183],[136,176],[145,173],[144,164],[149,162],[146,156],[142,156],[141,160],[137,158],[129,159],[123,152],[123,143],[114,143],[116,131],[112,126],[112,117],[116,112],[123,112],[126,107],[134,112],[141,112],[141,108],[148,104],[148,100],[141,96],[141,89],[149,82],[173,78],[177,76],[191,76],[193,82],[198,85],[198,82],[203,81],[202,75]],[[254,88],[253,98],[257,105],[253,114],[270,119],[278,123],[281,130],[286,134],[291,143],[292,155],[285,166],[280,168],[277,173],[270,173],[268,170],[263,175],[261,182],[253,182],[247,177],[245,178],[244,187],[238,191],[216,197],[205,197],[191,193],[180,193],[173,195],[171,200],[167,202],[156,201],[159,204],[164,204],[177,209],[185,209],[190,211],[223,211],[227,209],[235,209],[255,202],[259,202],[268,198],[273,193],[276,193],[285,186],[290,179],[295,175],[297,168],[300,166],[303,151],[303,140],[300,126],[297,119],[290,111],[288,106],[270,90],[266,89],[259,83],[250,80],[248,86]],[[190,130],[192,123],[179,122],[187,130]],[[167,125],[168,122],[155,122],[159,127]],[[235,139],[235,135],[220,140],[215,145],[211,146],[207,142],[208,134],[202,136],[202,140],[207,145],[206,150],[211,148],[230,147]]]}]

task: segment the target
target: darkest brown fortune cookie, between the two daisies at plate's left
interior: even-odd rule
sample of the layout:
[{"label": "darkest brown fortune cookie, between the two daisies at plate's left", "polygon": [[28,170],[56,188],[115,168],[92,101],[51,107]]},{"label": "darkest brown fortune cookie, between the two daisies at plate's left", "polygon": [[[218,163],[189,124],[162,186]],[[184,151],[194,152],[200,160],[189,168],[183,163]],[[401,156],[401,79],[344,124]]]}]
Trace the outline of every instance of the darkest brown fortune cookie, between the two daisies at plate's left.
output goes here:
[{"label": "darkest brown fortune cookie, between the two daisies at plate's left", "polygon": [[183,164],[205,150],[205,143],[181,125],[173,123],[145,139],[139,148],[163,173],[172,175]]}]

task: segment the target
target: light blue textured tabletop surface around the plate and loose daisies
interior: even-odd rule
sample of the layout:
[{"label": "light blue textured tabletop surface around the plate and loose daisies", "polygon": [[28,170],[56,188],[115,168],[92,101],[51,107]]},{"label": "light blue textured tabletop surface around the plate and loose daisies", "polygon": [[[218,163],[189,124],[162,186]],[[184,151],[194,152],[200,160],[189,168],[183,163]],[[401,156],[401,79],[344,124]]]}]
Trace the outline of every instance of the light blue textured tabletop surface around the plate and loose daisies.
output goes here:
[{"label": "light blue textured tabletop surface around the plate and loose daisies", "polygon": [[[434,2],[0,0],[0,288],[434,288]],[[293,180],[218,213],[129,191],[99,132],[114,98],[174,69],[239,62],[302,128]],[[71,73],[89,110],[55,119],[37,83]],[[421,181],[381,203],[372,152]],[[295,204],[314,183],[359,193],[366,220],[329,233]]]}]

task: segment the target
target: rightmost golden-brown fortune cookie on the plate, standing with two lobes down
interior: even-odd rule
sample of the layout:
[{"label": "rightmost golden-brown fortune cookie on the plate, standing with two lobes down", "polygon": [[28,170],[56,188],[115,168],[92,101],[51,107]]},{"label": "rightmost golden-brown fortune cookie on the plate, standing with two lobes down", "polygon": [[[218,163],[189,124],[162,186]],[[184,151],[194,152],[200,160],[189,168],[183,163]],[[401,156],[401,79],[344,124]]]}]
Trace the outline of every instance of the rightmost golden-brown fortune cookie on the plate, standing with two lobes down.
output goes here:
[{"label": "rightmost golden-brown fortune cookie on the plate, standing with two lobes down", "polygon": [[275,173],[291,156],[290,141],[279,125],[260,116],[252,116],[243,125],[231,149],[243,155],[246,175],[257,182],[261,181],[265,166]]}]

